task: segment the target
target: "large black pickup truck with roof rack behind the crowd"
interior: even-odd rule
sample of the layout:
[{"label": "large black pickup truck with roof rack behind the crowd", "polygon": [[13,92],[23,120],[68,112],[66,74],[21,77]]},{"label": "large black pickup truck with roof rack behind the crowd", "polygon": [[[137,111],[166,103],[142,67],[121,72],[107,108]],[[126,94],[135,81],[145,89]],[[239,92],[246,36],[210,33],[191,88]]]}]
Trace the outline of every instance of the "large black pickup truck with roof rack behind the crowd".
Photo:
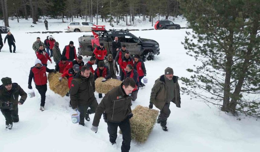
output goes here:
[{"label": "large black pickup truck with roof rack behind the crowd", "polygon": [[[159,43],[140,37],[136,37],[127,30],[105,30],[95,31],[99,35],[99,43],[104,43],[105,48],[112,54],[112,42],[115,37],[121,42],[121,45],[125,45],[126,49],[132,56],[140,55],[143,61],[154,60],[154,55],[160,54]],[[91,39],[94,39],[93,35],[83,35],[79,37],[78,55],[94,56]],[[96,44],[94,44],[96,48]]]}]

